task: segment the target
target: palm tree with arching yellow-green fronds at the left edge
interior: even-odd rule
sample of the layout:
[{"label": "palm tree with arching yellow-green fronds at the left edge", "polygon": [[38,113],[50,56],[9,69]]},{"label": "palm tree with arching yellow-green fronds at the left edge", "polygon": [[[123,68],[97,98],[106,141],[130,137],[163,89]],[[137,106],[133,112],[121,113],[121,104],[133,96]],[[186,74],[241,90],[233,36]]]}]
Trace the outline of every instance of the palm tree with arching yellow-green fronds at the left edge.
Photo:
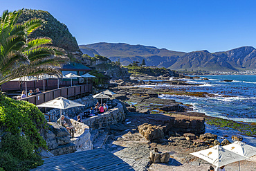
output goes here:
[{"label": "palm tree with arching yellow-green fronds at the left edge", "polygon": [[0,17],[0,85],[21,76],[62,75],[55,66],[66,61],[64,50],[50,46],[52,40],[48,37],[29,39],[44,21],[30,19],[17,24],[22,11],[6,10]]}]

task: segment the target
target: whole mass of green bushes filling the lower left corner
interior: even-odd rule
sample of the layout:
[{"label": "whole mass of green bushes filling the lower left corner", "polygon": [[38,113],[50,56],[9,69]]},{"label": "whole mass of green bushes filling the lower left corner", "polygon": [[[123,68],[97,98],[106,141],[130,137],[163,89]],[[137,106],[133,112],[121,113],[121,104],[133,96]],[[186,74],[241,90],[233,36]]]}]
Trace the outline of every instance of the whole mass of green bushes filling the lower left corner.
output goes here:
[{"label": "whole mass of green bushes filling the lower left corner", "polygon": [[45,128],[44,114],[35,105],[0,96],[0,168],[30,170],[42,165],[37,152],[46,148],[39,133]]}]

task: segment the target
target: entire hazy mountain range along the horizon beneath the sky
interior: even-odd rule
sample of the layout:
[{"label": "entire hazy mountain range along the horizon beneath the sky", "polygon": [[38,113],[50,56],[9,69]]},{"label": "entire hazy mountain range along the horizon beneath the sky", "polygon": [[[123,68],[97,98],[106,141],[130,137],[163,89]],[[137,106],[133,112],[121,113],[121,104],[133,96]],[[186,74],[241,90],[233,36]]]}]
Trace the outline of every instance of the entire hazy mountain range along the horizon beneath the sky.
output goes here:
[{"label": "entire hazy mountain range along the horizon beneath the sky", "polygon": [[79,46],[82,53],[90,56],[102,55],[111,61],[120,59],[121,64],[133,61],[145,62],[148,66],[165,67],[174,70],[243,71],[256,69],[256,49],[244,46],[230,51],[210,53],[193,51],[190,53],[170,51],[154,46],[130,45],[124,43],[96,43]]}]

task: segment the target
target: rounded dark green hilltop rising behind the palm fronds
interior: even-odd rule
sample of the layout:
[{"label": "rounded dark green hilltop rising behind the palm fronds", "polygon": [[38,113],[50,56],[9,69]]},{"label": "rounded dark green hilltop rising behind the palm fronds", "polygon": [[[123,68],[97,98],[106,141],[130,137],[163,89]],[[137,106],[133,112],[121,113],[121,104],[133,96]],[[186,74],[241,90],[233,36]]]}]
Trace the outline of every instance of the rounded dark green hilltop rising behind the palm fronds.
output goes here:
[{"label": "rounded dark green hilltop rising behind the palm fronds", "polygon": [[68,52],[79,50],[75,37],[71,35],[65,24],[57,21],[53,15],[44,10],[24,10],[19,17],[18,23],[28,21],[33,18],[44,19],[44,25],[35,30],[29,38],[33,37],[50,37],[53,39],[53,46],[64,48]]}]

